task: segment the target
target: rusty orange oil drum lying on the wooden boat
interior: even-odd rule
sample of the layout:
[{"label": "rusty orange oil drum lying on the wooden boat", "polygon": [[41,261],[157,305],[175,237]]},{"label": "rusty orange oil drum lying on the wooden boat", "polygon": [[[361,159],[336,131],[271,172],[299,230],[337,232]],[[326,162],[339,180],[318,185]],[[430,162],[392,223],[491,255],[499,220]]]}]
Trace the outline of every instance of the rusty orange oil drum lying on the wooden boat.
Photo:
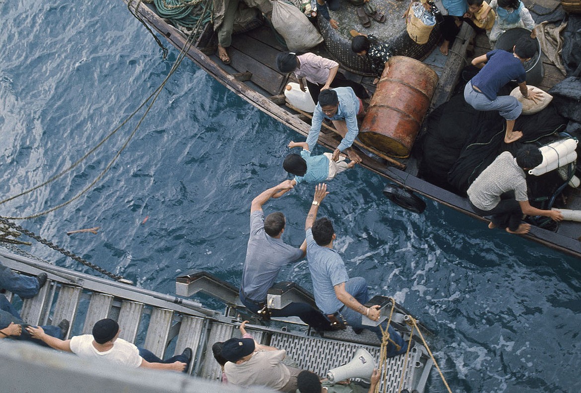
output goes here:
[{"label": "rusty orange oil drum lying on the wooden boat", "polygon": [[424,63],[406,56],[391,57],[361,124],[361,142],[393,157],[409,156],[437,80],[437,74]]}]

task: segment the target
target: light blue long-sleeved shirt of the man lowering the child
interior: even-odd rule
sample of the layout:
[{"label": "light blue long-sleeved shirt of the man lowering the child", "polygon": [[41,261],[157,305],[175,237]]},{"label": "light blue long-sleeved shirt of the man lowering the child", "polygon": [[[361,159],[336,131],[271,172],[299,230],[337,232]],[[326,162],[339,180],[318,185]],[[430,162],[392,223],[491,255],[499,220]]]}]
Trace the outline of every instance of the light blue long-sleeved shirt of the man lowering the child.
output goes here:
[{"label": "light blue long-sleeved shirt of the man lowering the child", "polygon": [[341,140],[339,146],[337,146],[341,152],[348,147],[351,147],[355,137],[359,134],[359,126],[357,125],[359,99],[353,92],[353,89],[350,87],[338,87],[332,90],[337,92],[337,98],[339,98],[337,113],[333,117],[328,117],[323,113],[321,104],[317,103],[313,112],[311,130],[309,131],[309,136],[307,136],[307,144],[309,145],[309,150],[311,150],[311,152],[319,139],[319,133],[321,132],[321,125],[324,118],[330,120],[345,120],[345,123],[347,124],[347,134],[345,135],[345,138]]}]

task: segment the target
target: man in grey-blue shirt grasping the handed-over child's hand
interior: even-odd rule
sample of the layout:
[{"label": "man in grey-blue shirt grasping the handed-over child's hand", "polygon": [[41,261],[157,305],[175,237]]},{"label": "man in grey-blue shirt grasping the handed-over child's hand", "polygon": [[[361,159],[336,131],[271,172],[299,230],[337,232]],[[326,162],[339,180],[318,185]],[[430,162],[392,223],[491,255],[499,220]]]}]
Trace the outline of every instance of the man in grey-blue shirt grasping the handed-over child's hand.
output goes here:
[{"label": "man in grey-blue shirt grasping the handed-over child's hand", "polygon": [[278,198],[293,188],[286,180],[259,194],[250,204],[250,238],[242,272],[240,300],[250,311],[263,317],[298,316],[304,323],[317,331],[329,330],[329,321],[310,304],[292,302],[282,309],[268,309],[266,297],[282,266],[297,262],[306,255],[307,244],[289,246],[282,241],[286,219],[281,212],[264,218],[262,207],[271,198]]}]

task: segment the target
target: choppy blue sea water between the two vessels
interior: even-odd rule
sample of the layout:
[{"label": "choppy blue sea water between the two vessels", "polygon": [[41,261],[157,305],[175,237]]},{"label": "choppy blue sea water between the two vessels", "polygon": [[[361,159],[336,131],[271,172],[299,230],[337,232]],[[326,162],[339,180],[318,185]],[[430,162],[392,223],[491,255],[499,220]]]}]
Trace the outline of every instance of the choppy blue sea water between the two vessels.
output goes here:
[{"label": "choppy blue sea water between the two vessels", "polygon": [[[161,84],[178,55],[163,60],[120,0],[0,0],[0,20],[2,199],[83,156]],[[135,124],[0,214],[35,214],[81,192]],[[20,223],[148,289],[173,293],[175,276],[194,269],[238,285],[250,201],[285,179],[286,144],[299,138],[185,61],[94,188]],[[384,183],[361,168],[339,175],[320,215],[335,223],[350,275],[367,277],[374,294],[393,294],[436,332],[432,347],[452,390],[581,391],[579,260],[431,201],[415,215],[383,198]],[[266,205],[287,215],[288,243],[303,240],[312,193],[302,186]],[[98,235],[65,234],[93,226]],[[86,271],[44,246],[30,250]],[[306,261],[280,279],[311,288]],[[435,370],[428,390],[445,391]]]}]

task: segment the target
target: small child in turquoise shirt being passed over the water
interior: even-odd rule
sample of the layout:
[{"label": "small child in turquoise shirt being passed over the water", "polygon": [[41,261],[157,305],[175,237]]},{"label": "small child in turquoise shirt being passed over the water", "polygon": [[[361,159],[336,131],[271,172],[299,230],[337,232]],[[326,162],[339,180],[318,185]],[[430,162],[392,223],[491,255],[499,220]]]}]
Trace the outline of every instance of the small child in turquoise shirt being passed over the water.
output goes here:
[{"label": "small child in turquoise shirt being passed over the water", "polygon": [[295,175],[293,185],[296,183],[320,183],[335,178],[337,174],[353,168],[355,161],[347,163],[345,156],[339,154],[339,160],[333,161],[331,153],[323,153],[320,156],[311,156],[307,142],[290,141],[290,149],[302,147],[299,154],[288,154],[282,162],[282,167],[291,175]]}]

